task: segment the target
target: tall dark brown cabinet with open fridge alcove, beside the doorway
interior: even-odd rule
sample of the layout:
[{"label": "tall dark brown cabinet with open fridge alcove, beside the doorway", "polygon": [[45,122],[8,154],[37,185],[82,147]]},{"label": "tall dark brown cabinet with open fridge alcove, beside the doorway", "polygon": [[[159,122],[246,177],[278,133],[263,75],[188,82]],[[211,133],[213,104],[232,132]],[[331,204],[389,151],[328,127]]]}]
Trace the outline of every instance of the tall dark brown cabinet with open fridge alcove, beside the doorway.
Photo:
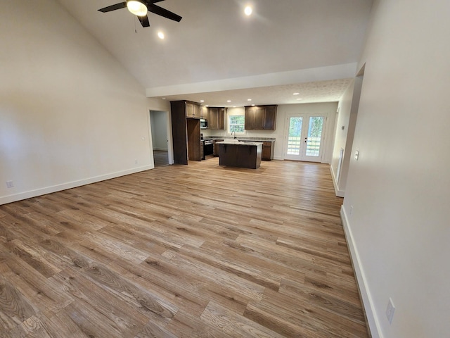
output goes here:
[{"label": "tall dark brown cabinet with open fridge alcove, beside the doorway", "polygon": [[[174,163],[188,164],[201,161],[200,154],[200,104],[191,101],[170,102]],[[195,117],[195,114],[198,114]]]}]

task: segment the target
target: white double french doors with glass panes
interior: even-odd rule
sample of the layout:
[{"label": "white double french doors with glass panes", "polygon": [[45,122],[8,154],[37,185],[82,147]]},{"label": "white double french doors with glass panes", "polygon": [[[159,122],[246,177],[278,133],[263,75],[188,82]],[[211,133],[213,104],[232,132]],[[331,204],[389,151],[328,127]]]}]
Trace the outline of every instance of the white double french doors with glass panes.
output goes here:
[{"label": "white double french doors with glass panes", "polygon": [[325,125],[326,114],[288,114],[284,158],[321,162]]}]

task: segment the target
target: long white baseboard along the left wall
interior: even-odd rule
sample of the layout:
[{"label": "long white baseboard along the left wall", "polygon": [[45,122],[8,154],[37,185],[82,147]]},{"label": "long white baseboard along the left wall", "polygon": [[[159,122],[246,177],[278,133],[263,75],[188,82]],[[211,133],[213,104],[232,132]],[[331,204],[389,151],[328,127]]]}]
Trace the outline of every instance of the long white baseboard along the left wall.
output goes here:
[{"label": "long white baseboard along the left wall", "polygon": [[84,180],[77,180],[73,182],[66,182],[62,184],[56,184],[51,187],[44,187],[39,189],[30,190],[27,192],[20,192],[18,194],[12,194],[8,196],[0,196],[0,206],[2,204],[8,204],[16,201],[21,201],[23,199],[30,199],[32,197],[41,196],[45,194],[51,194],[52,192],[60,192],[65,189],[72,189],[75,187],[81,187],[82,185],[91,184],[95,182],[100,182],[104,180],[110,180],[111,178],[130,175],[134,173],[139,173],[144,170],[153,169],[155,166],[152,165],[144,165],[143,167],[133,168],[128,170],[118,171],[116,173],[109,173],[105,175],[99,175],[95,177],[86,178]]}]

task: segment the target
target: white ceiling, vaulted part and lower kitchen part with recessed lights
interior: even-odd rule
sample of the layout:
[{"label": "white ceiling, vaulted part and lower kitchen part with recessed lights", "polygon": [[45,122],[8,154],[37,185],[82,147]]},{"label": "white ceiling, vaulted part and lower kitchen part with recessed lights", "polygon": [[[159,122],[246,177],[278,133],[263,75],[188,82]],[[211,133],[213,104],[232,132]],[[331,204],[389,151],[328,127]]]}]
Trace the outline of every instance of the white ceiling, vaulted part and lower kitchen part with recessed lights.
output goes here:
[{"label": "white ceiling, vaulted part and lower kitchen part with recessed lights", "polygon": [[[141,82],[147,96],[204,99],[211,106],[338,101],[356,73],[372,4],[165,0],[158,6],[181,15],[181,22],[148,13],[150,27],[143,28],[126,8],[97,11],[120,0],[57,1]],[[243,14],[247,4],[254,8],[250,17]]]}]

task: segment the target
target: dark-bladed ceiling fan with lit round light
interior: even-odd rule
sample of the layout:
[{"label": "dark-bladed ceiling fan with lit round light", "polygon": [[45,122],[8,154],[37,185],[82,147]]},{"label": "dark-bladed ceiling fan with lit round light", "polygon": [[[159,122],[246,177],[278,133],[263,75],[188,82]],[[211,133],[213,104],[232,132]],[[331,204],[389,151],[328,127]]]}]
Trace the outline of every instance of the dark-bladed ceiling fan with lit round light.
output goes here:
[{"label": "dark-bladed ceiling fan with lit round light", "polygon": [[112,6],[108,6],[105,8],[101,8],[98,11],[103,13],[115,11],[116,9],[121,9],[127,7],[128,10],[137,15],[139,21],[141,22],[142,27],[150,27],[150,22],[148,21],[147,11],[151,13],[155,13],[163,16],[164,18],[174,20],[177,23],[181,21],[181,16],[172,13],[171,11],[167,11],[167,9],[162,8],[160,6],[156,6],[156,2],[160,2],[164,0],[127,0],[125,2],[121,2],[120,4],[115,4]]}]

